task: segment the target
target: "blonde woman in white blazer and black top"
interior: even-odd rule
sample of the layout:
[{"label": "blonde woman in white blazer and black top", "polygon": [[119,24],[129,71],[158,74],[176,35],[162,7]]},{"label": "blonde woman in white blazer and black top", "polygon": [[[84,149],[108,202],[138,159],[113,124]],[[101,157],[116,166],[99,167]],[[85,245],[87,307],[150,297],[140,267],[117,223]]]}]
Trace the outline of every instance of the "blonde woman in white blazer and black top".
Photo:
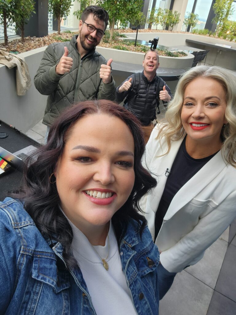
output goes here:
[{"label": "blonde woman in white blazer and black top", "polygon": [[236,216],[236,77],[198,66],[180,78],[144,166],[159,183],[142,200],[160,249],[160,299]]}]

